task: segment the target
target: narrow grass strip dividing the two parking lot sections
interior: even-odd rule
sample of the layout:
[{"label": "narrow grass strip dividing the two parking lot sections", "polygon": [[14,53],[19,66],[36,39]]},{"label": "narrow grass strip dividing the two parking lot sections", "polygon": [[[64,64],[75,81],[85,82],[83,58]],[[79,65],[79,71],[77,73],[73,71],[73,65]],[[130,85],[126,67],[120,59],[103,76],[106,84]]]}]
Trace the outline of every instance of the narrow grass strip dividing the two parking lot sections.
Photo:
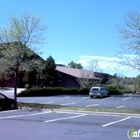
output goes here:
[{"label": "narrow grass strip dividing the two parking lot sections", "polygon": [[46,105],[35,103],[18,103],[18,108],[29,108],[33,110],[43,109],[62,109],[62,110],[75,110],[75,111],[91,111],[91,112],[109,112],[109,113],[130,113],[140,114],[140,109],[125,109],[125,108],[100,108],[100,107],[77,107],[77,106],[61,106],[61,105]]}]

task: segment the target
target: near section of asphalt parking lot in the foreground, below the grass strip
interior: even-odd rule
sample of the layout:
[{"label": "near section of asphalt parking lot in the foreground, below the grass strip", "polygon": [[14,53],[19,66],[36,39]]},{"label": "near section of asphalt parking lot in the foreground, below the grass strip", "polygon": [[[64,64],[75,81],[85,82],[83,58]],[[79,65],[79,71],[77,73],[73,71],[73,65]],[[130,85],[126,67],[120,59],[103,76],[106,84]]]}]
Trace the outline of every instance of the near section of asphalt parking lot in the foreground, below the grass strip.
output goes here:
[{"label": "near section of asphalt parking lot in the foreground, below the grass strip", "polygon": [[3,140],[126,140],[130,128],[140,129],[140,116],[64,111],[0,112]]}]

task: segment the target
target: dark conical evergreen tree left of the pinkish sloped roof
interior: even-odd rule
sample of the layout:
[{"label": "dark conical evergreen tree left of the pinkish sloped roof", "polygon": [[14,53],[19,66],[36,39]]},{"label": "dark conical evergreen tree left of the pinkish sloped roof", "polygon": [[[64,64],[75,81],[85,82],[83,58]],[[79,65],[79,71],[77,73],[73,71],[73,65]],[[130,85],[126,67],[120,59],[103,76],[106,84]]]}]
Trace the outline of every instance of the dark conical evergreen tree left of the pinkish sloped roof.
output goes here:
[{"label": "dark conical evergreen tree left of the pinkish sloped roof", "polygon": [[42,69],[42,81],[44,86],[59,86],[60,84],[60,75],[56,71],[55,60],[52,56],[49,56],[46,59],[44,68]]}]

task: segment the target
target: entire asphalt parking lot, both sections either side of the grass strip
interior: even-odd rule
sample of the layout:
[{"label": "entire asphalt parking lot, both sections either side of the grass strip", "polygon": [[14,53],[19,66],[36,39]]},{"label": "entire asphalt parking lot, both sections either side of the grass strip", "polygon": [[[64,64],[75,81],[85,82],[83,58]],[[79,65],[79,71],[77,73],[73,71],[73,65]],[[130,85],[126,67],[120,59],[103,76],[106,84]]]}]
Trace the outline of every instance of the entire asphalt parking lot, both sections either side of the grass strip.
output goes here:
[{"label": "entire asphalt parking lot, both sections either side of the grass strip", "polygon": [[[13,91],[2,91],[13,98]],[[90,99],[87,96],[18,97],[18,102],[82,107],[139,109],[139,97],[111,96]],[[140,129],[140,115],[89,113],[78,111],[0,112],[0,136],[3,140],[126,140],[130,128]]]}]

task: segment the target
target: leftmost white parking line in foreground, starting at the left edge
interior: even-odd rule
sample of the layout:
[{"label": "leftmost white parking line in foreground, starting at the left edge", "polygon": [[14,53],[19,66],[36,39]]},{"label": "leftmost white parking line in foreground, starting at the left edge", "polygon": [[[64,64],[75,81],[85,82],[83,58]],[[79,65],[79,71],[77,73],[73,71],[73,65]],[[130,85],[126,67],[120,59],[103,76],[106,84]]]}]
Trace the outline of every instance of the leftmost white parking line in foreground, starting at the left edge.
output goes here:
[{"label": "leftmost white parking line in foreground, starting at the left edge", "polygon": [[47,113],[52,113],[52,111],[46,111],[46,112],[34,113],[34,114],[26,114],[26,115],[15,115],[15,116],[0,117],[0,120],[9,119],[9,118],[17,118],[17,117],[36,116],[36,115],[47,114]]}]

